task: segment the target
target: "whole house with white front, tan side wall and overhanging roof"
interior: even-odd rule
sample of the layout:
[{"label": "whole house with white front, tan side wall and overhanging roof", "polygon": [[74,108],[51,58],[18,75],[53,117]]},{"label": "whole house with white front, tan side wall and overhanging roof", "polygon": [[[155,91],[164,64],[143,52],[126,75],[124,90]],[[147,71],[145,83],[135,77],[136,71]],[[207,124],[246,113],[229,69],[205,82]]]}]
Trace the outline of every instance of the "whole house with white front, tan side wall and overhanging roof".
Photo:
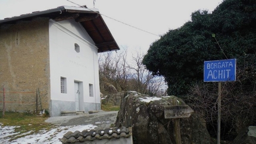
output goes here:
[{"label": "whole house with white front, tan side wall and overhanging roof", "polygon": [[35,112],[37,89],[51,117],[101,109],[98,53],[118,49],[97,9],[62,6],[0,20],[6,111]]}]

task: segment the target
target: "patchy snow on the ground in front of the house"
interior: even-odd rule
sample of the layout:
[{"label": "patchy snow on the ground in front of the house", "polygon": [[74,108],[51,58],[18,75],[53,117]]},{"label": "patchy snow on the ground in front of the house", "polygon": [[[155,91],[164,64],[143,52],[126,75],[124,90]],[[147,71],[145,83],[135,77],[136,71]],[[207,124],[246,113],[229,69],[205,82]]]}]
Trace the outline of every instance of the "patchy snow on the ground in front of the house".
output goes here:
[{"label": "patchy snow on the ground in front of the house", "polygon": [[[68,131],[75,132],[79,130],[82,132],[83,130],[91,130],[95,129],[93,124],[88,124],[85,126],[60,126],[55,129],[51,129],[49,131],[40,130],[36,134],[31,134],[28,136],[20,137],[9,142],[11,135],[17,134],[17,136],[23,136],[23,134],[18,134],[14,132],[15,126],[2,126],[0,123],[0,143],[11,143],[11,144],[28,144],[28,143],[41,143],[41,144],[49,144],[49,143],[57,143],[61,144],[60,139],[64,136]],[[28,132],[30,133],[30,132]]]}]

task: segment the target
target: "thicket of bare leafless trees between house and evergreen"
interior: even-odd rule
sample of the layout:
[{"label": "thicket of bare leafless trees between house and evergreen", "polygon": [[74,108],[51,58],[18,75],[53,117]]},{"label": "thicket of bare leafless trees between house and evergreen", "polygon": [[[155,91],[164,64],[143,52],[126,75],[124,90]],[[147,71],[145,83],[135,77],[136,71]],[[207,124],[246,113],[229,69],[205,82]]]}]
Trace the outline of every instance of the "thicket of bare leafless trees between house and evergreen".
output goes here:
[{"label": "thicket of bare leafless trees between house and evergreen", "polygon": [[99,76],[101,91],[108,87],[121,90],[135,90],[140,93],[157,95],[163,88],[163,77],[152,76],[142,64],[141,51],[133,54],[132,61],[127,60],[127,49],[118,52],[99,54]]}]

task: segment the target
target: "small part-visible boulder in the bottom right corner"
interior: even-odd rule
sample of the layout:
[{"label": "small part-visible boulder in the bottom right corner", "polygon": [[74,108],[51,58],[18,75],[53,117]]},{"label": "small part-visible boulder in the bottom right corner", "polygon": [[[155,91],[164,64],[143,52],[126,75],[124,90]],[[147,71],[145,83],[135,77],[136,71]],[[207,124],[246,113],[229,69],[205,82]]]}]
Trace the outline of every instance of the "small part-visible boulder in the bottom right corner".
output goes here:
[{"label": "small part-visible boulder in the bottom right corner", "polygon": [[256,126],[249,126],[241,130],[236,136],[233,144],[255,144],[256,143]]}]

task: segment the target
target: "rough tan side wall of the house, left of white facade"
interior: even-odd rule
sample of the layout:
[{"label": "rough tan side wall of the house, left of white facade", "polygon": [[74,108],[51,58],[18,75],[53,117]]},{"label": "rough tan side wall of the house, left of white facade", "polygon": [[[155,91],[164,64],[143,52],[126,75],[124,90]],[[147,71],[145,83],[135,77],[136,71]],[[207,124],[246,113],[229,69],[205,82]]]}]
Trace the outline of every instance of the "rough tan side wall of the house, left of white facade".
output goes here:
[{"label": "rough tan side wall of the house, left of white facade", "polygon": [[[49,19],[36,18],[0,29],[0,92],[7,111],[35,112],[36,89],[49,107]],[[3,95],[0,94],[0,110]],[[40,107],[39,107],[40,108]]]}]

